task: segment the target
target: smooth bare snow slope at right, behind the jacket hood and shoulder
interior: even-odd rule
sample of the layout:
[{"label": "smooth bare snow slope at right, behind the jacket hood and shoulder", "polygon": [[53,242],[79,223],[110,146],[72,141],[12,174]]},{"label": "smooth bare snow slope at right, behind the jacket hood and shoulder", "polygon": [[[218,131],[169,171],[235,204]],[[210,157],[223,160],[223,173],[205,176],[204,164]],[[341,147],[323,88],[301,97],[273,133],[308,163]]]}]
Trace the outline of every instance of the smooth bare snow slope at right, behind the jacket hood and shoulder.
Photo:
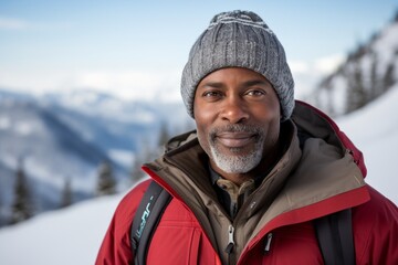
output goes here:
[{"label": "smooth bare snow slope at right, behind the jacket hood and shoulder", "polygon": [[398,84],[360,112],[342,117],[338,125],[363,151],[367,182],[398,203]]}]

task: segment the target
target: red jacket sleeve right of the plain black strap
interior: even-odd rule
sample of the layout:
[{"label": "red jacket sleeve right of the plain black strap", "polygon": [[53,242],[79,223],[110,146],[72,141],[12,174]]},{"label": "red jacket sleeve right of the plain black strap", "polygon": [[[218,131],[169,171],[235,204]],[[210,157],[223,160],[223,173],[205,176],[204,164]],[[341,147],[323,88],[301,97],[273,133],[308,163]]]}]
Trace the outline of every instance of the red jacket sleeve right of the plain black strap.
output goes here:
[{"label": "red jacket sleeve right of the plain black strap", "polygon": [[398,208],[370,187],[369,193],[354,223],[357,264],[398,264]]}]

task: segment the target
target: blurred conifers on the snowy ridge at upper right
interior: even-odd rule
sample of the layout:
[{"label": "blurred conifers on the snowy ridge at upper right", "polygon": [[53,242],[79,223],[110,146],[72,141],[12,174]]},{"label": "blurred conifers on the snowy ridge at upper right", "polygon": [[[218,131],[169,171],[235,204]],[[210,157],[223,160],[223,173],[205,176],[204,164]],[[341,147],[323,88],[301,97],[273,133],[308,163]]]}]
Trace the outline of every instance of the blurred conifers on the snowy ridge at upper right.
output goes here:
[{"label": "blurred conifers on the snowy ridge at upper right", "polygon": [[[391,23],[398,23],[398,10]],[[398,47],[389,51],[392,56],[379,57],[373,49],[380,38],[380,31],[371,35],[366,44],[358,44],[355,50],[347,54],[346,62],[338,70],[326,76],[315,92],[315,105],[323,108],[329,115],[348,114],[359,109],[389,91],[397,82]],[[387,52],[387,51],[386,51]],[[334,99],[335,81],[343,77],[346,81],[344,104],[338,104],[336,109]],[[328,98],[328,100],[324,99]]]}]

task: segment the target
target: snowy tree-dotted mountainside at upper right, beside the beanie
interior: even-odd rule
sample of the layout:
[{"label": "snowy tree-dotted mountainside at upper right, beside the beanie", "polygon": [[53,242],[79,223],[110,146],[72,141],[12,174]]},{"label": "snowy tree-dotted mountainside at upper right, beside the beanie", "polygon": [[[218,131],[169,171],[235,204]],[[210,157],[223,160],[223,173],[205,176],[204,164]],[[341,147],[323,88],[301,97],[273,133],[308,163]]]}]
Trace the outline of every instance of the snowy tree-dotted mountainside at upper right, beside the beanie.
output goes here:
[{"label": "snowy tree-dotted mountainside at upper right, beside the beanie", "polygon": [[345,62],[323,78],[311,100],[332,116],[350,113],[398,83],[398,15],[357,46]]}]

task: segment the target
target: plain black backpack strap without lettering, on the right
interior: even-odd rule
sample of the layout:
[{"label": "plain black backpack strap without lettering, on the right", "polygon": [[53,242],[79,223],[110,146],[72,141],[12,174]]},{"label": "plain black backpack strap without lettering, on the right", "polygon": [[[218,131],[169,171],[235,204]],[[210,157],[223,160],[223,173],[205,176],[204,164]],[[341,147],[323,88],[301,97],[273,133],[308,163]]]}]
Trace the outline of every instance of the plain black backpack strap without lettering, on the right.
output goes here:
[{"label": "plain black backpack strap without lettering, on the right", "polygon": [[314,223],[325,265],[355,264],[352,210],[320,218]]}]

